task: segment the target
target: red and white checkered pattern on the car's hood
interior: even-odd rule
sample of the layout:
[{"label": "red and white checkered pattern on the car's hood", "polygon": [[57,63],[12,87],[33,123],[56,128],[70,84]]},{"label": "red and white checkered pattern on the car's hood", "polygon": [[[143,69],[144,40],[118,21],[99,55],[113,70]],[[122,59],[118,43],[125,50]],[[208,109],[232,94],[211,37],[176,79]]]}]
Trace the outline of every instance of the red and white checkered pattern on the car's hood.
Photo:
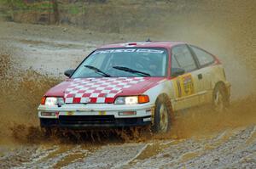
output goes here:
[{"label": "red and white checkered pattern on the car's hood", "polygon": [[114,97],[144,77],[103,77],[74,79],[65,91],[66,104],[113,103]]}]

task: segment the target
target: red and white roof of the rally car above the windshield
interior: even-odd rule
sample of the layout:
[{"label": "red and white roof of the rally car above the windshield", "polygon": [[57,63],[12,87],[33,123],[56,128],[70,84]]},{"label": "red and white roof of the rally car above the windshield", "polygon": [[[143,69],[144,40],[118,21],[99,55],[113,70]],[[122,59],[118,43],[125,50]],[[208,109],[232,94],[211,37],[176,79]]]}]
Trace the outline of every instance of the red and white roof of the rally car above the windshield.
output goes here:
[{"label": "red and white roof of the rally car above the windshield", "polygon": [[122,43],[114,43],[108,44],[100,47],[102,48],[172,48],[178,44],[186,44],[185,42],[122,42]]}]

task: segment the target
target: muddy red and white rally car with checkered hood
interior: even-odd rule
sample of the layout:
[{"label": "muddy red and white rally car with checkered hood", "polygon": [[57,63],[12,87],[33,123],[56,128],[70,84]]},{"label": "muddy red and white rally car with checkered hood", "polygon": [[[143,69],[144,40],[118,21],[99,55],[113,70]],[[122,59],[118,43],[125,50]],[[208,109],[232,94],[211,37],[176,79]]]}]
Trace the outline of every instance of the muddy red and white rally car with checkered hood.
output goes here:
[{"label": "muddy red and white rally car with checkered hood", "polygon": [[230,100],[219,60],[184,42],[130,42],[93,51],[38,107],[41,127],[136,127],[167,132],[178,110]]}]

